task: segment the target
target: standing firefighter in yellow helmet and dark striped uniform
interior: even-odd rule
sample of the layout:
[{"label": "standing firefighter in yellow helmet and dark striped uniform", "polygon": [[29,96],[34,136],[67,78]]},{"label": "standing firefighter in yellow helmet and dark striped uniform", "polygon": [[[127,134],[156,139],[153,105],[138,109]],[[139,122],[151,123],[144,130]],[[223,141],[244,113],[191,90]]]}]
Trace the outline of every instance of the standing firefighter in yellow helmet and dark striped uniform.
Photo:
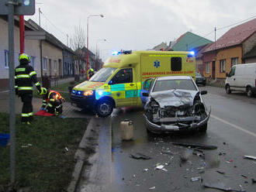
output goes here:
[{"label": "standing firefighter in yellow helmet and dark striped uniform", "polygon": [[29,63],[30,57],[22,53],[19,56],[19,66],[15,69],[16,94],[23,103],[21,122],[25,124],[30,124],[33,120],[33,84],[36,85],[39,94],[42,92],[42,87],[36,78],[36,71]]}]

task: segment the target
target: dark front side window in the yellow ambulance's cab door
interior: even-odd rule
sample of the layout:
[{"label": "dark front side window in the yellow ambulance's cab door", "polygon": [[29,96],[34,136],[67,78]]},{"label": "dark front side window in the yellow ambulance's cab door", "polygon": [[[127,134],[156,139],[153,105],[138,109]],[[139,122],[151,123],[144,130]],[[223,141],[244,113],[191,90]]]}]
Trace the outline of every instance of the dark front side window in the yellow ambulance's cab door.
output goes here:
[{"label": "dark front side window in the yellow ambulance's cab door", "polygon": [[127,84],[133,82],[133,69],[122,69],[112,77],[111,84]]}]

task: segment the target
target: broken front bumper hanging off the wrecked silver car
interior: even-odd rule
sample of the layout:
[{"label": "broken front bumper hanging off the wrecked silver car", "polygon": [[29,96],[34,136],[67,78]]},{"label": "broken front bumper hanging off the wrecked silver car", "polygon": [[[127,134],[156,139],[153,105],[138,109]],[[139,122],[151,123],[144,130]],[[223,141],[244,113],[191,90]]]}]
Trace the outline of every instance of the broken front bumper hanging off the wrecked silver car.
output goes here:
[{"label": "broken front bumper hanging off the wrecked silver car", "polygon": [[[209,111],[210,115],[210,111]],[[206,123],[209,120],[209,115],[207,115],[206,118],[204,118],[201,122],[192,123],[190,125],[184,126],[178,126],[178,125],[156,125],[153,122],[150,122],[147,119],[147,116],[144,115],[144,119],[146,122],[147,130],[150,132],[178,132],[178,131],[189,131],[189,130],[196,130],[202,128],[203,125],[206,125]]]}]

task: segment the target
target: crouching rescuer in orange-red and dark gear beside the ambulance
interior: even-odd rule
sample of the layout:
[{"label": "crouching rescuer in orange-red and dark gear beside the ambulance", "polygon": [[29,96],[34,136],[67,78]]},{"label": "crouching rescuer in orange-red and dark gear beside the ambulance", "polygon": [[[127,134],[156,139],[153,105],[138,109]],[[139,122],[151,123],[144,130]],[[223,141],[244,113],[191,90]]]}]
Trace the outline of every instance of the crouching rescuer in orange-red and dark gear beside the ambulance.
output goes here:
[{"label": "crouching rescuer in orange-red and dark gear beside the ambulance", "polygon": [[64,98],[57,91],[47,90],[43,87],[43,105],[41,110],[45,110],[48,113],[54,114],[56,116],[62,113],[62,103],[64,103]]}]

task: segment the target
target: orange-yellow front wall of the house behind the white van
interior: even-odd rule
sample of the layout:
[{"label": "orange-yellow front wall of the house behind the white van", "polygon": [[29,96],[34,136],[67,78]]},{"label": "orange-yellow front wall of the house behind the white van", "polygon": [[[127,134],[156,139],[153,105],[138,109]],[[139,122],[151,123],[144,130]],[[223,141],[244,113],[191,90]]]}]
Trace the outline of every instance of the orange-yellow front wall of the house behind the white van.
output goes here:
[{"label": "orange-yellow front wall of the house behind the white van", "polygon": [[[226,73],[230,71],[231,68],[231,58],[238,57],[238,63],[242,63],[242,47],[234,46],[226,50],[219,50],[216,55],[216,64],[215,64],[215,77],[216,78],[226,78]],[[226,70],[223,73],[220,73],[220,60],[226,59]]]}]

